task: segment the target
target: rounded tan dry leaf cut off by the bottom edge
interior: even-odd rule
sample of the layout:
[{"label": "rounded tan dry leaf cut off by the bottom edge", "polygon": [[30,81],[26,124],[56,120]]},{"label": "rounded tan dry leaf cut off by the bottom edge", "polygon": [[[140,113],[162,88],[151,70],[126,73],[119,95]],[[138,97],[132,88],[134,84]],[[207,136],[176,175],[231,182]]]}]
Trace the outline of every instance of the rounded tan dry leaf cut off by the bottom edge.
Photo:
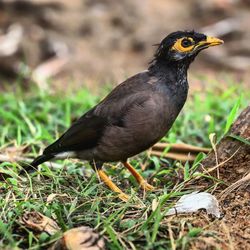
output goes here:
[{"label": "rounded tan dry leaf cut off by the bottom edge", "polygon": [[66,231],[50,250],[104,250],[103,237],[89,227],[78,227]]}]

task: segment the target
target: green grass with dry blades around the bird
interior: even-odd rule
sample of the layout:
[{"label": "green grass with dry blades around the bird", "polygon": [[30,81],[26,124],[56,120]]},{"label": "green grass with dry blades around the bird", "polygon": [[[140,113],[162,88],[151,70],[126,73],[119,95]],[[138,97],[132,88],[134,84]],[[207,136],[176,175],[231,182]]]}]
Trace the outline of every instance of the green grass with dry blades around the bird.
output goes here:
[{"label": "green grass with dry blades around the bird", "polygon": [[[209,134],[221,138],[236,114],[247,105],[247,95],[236,83],[193,94],[173,128],[163,141],[210,146]],[[239,98],[240,97],[240,98]],[[53,142],[77,117],[97,101],[87,90],[64,96],[49,95],[37,89],[25,93],[6,92],[0,96],[0,149],[12,147],[14,154],[33,158]],[[25,148],[23,148],[25,147]],[[187,249],[205,228],[193,227],[188,220],[178,222],[165,214],[187,189],[202,155],[193,163],[136,156],[131,163],[153,180],[156,192],[143,194],[129,173],[119,164],[108,164],[109,176],[133,199],[120,202],[101,184],[86,162],[58,161],[61,168],[42,165],[39,171],[19,175],[17,163],[0,163],[0,248],[46,249],[60,234],[49,236],[25,228],[19,218],[36,210],[55,219],[63,231],[87,225],[104,235],[108,249]],[[177,173],[183,178],[177,178]],[[155,174],[156,173],[156,174]],[[1,177],[0,177],[1,178]],[[57,194],[47,201],[50,194]],[[152,203],[158,204],[152,209]],[[136,204],[141,206],[138,208]]]}]

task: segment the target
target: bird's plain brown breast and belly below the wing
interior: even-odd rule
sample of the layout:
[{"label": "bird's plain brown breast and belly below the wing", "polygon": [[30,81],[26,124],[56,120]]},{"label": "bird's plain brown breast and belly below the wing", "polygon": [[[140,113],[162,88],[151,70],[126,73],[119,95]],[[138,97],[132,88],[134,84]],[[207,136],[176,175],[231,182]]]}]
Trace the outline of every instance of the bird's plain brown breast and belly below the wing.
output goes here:
[{"label": "bird's plain brown breast and belly below the wing", "polygon": [[154,145],[170,129],[179,113],[174,102],[155,95],[144,105],[135,105],[123,119],[123,126],[108,126],[96,148],[103,161],[119,161]]}]

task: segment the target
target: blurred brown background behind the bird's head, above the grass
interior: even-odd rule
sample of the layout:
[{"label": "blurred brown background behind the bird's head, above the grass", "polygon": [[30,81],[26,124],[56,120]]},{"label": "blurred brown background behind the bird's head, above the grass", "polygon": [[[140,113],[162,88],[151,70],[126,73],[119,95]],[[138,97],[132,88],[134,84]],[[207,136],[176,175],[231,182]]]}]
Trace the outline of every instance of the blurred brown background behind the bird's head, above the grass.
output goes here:
[{"label": "blurred brown background behind the bird's head, above the grass", "polygon": [[249,27],[249,0],[1,0],[0,89],[118,84],[147,68],[152,45],[183,29],[225,41],[192,65],[192,88],[204,75],[249,87]]}]

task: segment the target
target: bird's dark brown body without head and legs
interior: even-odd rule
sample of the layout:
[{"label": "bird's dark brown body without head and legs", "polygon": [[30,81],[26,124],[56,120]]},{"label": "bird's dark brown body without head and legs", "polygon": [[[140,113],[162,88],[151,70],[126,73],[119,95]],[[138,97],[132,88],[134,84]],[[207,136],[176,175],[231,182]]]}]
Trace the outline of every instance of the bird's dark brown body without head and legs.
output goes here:
[{"label": "bird's dark brown body without head and legs", "polygon": [[183,78],[178,82],[177,76],[158,72],[161,74],[144,71],[118,85],[45,149],[45,154],[112,162],[126,161],[151,147],[172,126],[188,89]]}]

